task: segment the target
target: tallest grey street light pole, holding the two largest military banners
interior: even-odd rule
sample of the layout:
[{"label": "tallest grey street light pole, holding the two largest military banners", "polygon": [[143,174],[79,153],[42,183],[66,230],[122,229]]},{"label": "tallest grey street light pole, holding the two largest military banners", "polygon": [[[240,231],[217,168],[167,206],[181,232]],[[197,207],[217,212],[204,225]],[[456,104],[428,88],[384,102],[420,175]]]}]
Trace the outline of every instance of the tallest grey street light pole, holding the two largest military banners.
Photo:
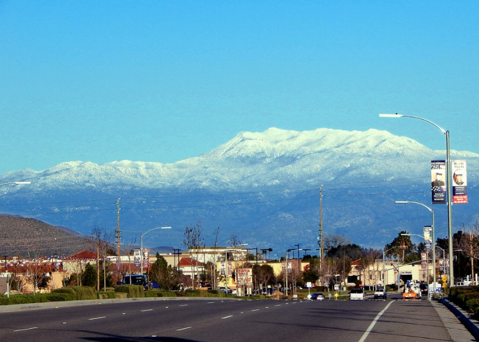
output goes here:
[{"label": "tallest grey street light pole, holding the two largest military banners", "polygon": [[[380,117],[412,117],[414,119],[419,119],[430,123],[439,129],[446,136],[446,186],[447,186],[447,222],[448,222],[448,232],[449,232],[449,260],[453,259],[453,224],[452,224],[452,202],[451,202],[451,151],[449,148],[449,131],[446,131],[434,122],[426,120],[419,116],[412,115],[402,115],[402,114],[379,114]],[[454,263],[449,262],[449,284],[454,286]]]}]

